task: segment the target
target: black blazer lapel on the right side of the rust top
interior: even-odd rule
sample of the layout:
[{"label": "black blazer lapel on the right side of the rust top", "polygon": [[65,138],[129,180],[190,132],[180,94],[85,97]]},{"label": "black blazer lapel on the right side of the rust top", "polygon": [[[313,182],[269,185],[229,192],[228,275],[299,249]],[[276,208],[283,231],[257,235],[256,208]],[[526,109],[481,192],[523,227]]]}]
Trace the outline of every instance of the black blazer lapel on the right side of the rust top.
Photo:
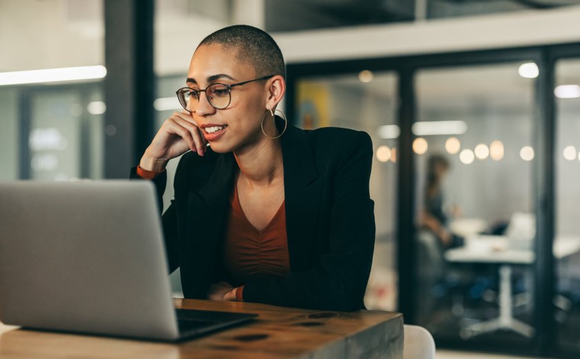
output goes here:
[{"label": "black blazer lapel on the right side of the rust top", "polygon": [[288,126],[282,136],[286,231],[292,271],[305,271],[317,231],[322,180],[303,130]]}]

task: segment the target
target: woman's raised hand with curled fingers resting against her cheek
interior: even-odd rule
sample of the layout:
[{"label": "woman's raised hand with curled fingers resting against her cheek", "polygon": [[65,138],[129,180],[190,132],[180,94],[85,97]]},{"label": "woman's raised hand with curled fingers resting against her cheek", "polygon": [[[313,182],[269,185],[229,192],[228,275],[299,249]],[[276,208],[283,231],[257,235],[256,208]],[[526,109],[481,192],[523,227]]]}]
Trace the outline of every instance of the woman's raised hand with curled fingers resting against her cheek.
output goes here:
[{"label": "woman's raised hand with curled fingers resting against her cheek", "polygon": [[203,156],[207,142],[191,114],[182,110],[165,120],[147,147],[139,166],[147,171],[163,171],[167,162],[191,150]]}]

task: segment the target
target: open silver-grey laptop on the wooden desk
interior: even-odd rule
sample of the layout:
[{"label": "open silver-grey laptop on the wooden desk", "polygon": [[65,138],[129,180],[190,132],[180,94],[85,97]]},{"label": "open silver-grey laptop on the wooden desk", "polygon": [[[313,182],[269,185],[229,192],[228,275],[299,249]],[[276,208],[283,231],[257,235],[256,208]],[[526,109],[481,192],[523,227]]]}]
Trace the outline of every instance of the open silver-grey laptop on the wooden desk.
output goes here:
[{"label": "open silver-grey laptop on the wooden desk", "polygon": [[173,342],[256,317],[175,309],[151,182],[0,182],[0,322]]}]

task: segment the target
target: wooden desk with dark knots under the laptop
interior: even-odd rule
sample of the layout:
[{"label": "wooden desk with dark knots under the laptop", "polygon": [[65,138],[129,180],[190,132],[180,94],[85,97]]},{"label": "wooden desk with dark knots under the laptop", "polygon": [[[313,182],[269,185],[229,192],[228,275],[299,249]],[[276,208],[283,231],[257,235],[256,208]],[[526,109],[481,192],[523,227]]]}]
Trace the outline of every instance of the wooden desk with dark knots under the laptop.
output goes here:
[{"label": "wooden desk with dark knots under the laptop", "polygon": [[403,316],[176,300],[176,307],[257,313],[258,320],[180,344],[28,331],[0,323],[0,358],[403,358]]}]

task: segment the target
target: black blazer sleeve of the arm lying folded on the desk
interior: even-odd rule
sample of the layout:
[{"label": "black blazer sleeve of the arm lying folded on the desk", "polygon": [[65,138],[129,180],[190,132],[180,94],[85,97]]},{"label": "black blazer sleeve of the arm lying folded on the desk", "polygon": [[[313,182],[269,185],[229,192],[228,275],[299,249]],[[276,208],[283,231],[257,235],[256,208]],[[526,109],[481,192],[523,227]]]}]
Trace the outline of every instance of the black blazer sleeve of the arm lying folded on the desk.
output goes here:
[{"label": "black blazer sleeve of the arm lying folded on the desk", "polygon": [[244,301],[335,311],[364,309],[374,251],[374,202],[369,195],[373,149],[366,133],[344,145],[334,173],[329,246],[309,271],[251,280]]}]

